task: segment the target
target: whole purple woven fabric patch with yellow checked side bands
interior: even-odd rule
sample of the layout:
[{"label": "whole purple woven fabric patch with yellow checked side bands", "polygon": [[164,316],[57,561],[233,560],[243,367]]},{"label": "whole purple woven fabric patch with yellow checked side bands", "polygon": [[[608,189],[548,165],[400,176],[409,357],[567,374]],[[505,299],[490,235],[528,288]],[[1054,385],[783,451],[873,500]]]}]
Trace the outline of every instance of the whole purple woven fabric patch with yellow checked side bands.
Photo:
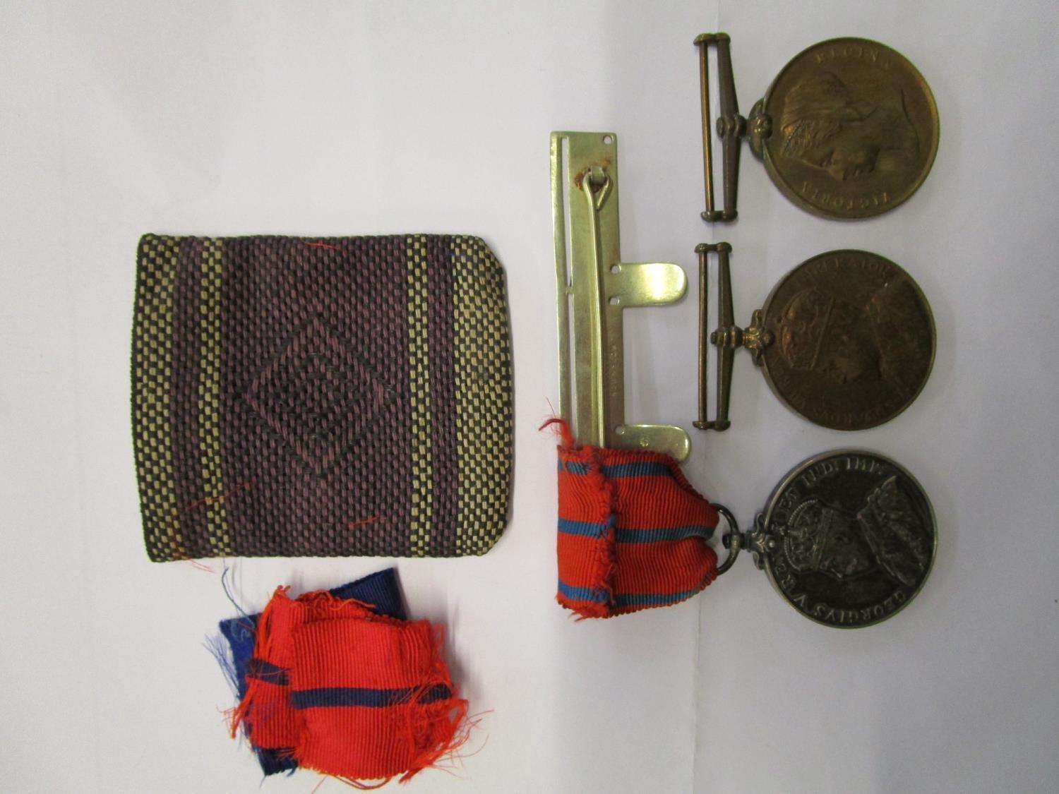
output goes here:
[{"label": "whole purple woven fabric patch with yellow checked side bands", "polygon": [[478,237],[145,235],[148,556],[484,554],[507,516],[508,340],[503,269]]}]

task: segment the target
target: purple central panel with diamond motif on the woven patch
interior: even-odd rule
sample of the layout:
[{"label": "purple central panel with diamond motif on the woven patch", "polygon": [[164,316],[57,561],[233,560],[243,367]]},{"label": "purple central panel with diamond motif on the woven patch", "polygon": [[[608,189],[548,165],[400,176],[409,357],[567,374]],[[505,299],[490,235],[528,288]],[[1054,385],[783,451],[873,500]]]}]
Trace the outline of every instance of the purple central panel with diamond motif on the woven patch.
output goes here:
[{"label": "purple central panel with diamond motif on the woven patch", "polygon": [[241,554],[408,554],[405,243],[326,245],[225,245],[221,438],[226,483],[249,484],[228,505]]}]

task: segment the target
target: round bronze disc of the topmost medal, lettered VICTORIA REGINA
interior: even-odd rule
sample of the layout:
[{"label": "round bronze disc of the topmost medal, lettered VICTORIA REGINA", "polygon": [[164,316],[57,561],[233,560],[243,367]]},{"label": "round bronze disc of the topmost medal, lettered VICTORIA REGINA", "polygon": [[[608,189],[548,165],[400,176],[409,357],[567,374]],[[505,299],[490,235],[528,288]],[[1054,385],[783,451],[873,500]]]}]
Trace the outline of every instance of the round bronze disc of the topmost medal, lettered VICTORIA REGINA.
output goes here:
[{"label": "round bronze disc of the topmost medal, lettered VICTORIA REGINA", "polygon": [[796,55],[751,114],[768,120],[761,151],[772,181],[831,218],[886,212],[934,163],[938,116],[922,75],[900,53],[836,38]]}]

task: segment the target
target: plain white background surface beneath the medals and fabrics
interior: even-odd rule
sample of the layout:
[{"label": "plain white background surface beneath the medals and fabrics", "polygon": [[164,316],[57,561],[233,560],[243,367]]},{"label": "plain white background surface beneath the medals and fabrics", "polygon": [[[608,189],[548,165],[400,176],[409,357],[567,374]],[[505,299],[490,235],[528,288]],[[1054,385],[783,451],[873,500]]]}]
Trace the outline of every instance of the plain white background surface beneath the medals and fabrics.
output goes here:
[{"label": "plain white background surface beneath the medals and fabrics", "polygon": [[[183,2],[0,5],[0,788],[308,792],[259,786],[225,735],[203,634],[218,573],[151,564],[128,427],[139,235],[462,232],[506,267],[516,475],[484,558],[399,560],[412,614],[448,625],[472,709],[421,792],[1035,792],[1059,761],[1053,0]],[[742,108],[804,47],[905,54],[941,118],[896,212],[810,216],[743,154],[740,219],[707,228],[692,39],[733,37]],[[692,272],[728,239],[737,319],[833,248],[904,266],[937,323],[896,420],[816,428],[738,358],[733,429],[694,430],[693,483],[748,523],[808,455],[878,450],[928,490],[934,572],[863,631],[795,614],[742,561],[693,601],[576,624],[553,601],[555,401],[549,132],[620,137],[628,260]],[[696,306],[627,315],[628,417],[695,414]],[[221,565],[213,563],[219,572]],[[347,581],[378,559],[236,560],[237,591]],[[487,737],[487,739],[486,739]],[[341,792],[337,782],[321,791]]]}]

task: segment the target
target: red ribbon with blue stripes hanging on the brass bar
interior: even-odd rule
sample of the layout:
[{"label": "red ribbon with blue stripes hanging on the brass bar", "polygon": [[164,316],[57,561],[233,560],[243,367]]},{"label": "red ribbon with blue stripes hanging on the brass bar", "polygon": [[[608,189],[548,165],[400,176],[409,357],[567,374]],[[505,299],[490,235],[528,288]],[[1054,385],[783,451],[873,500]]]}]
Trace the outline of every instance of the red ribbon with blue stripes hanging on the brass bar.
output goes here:
[{"label": "red ribbon with blue stripes hanging on the brass bar", "polygon": [[717,511],[668,455],[559,447],[559,587],[581,617],[690,598],[717,577]]}]

